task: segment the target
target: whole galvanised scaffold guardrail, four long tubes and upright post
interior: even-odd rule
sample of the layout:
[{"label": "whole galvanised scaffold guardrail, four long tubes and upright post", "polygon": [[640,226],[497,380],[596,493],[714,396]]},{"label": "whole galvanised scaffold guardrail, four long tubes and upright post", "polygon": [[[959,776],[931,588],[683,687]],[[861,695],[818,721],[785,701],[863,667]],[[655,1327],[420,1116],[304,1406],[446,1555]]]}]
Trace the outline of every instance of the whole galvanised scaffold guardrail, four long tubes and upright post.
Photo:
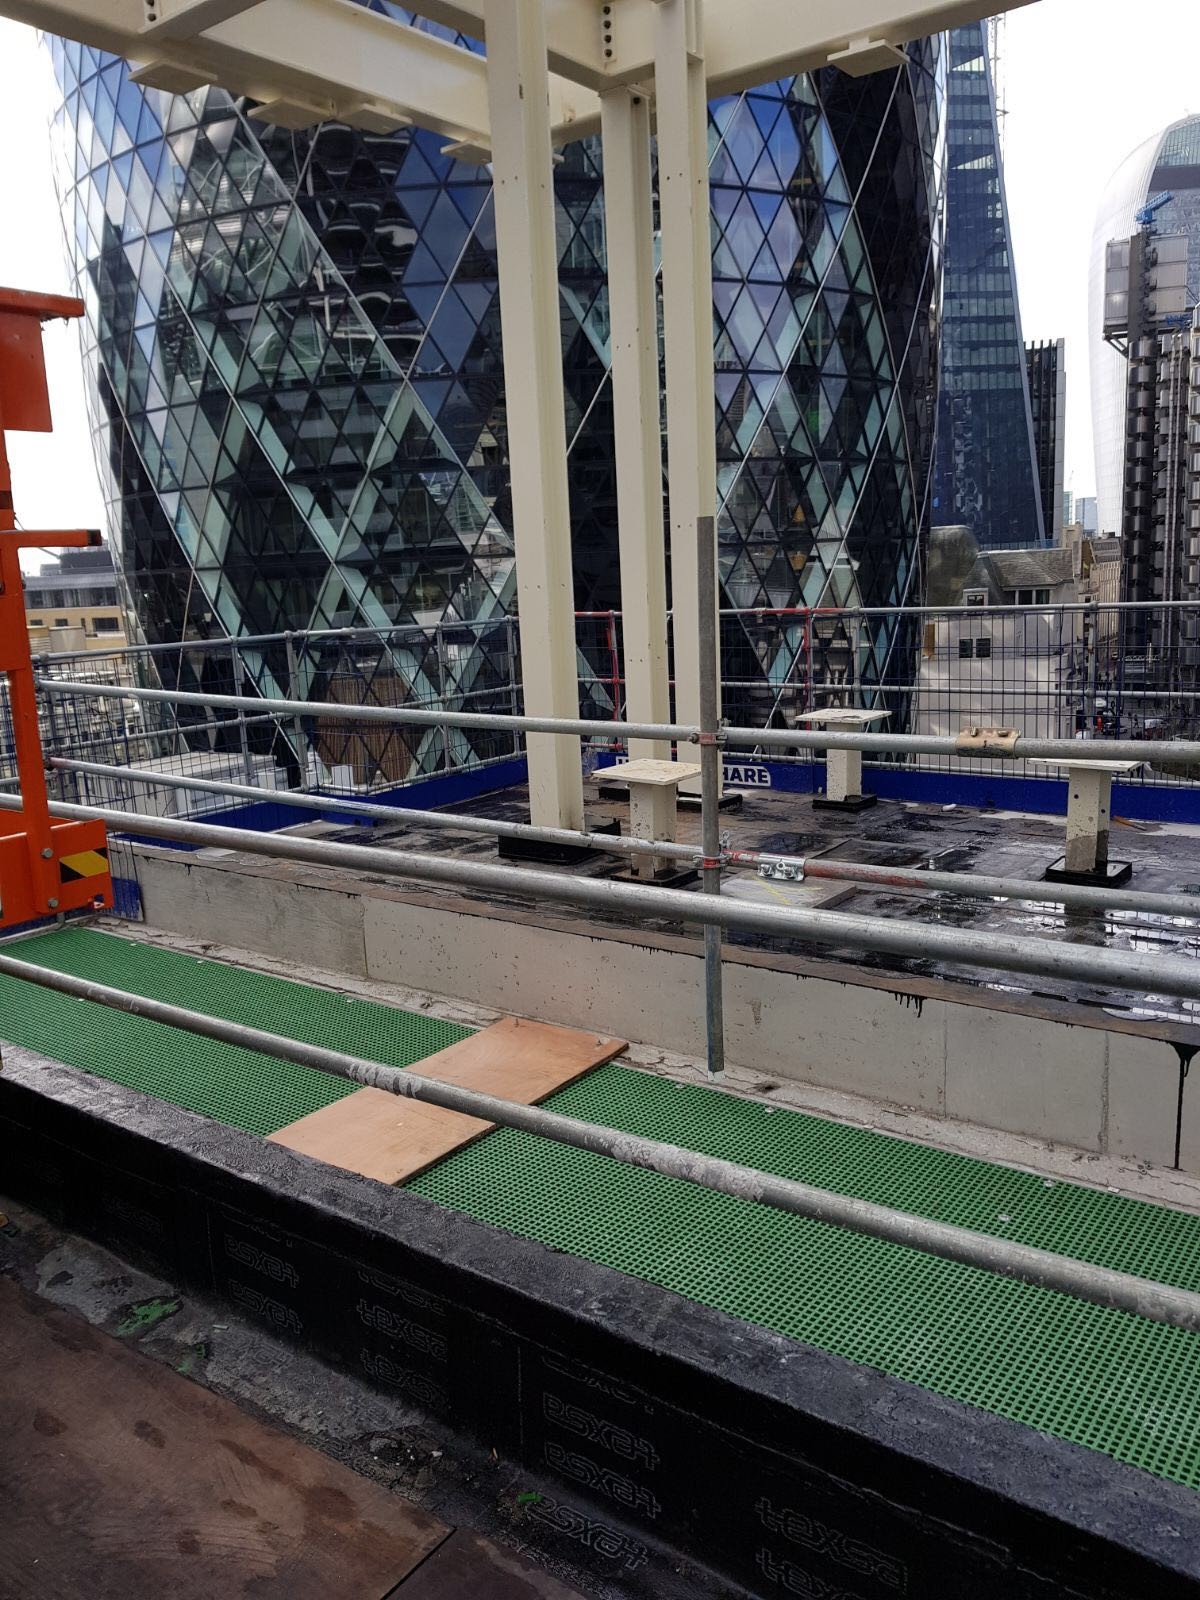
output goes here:
[{"label": "whole galvanised scaffold guardrail, four long tubes and upright post", "polygon": [[[715,573],[714,562],[714,525],[704,518],[698,528],[699,570],[702,574]],[[709,576],[709,584],[712,584]],[[704,587],[704,586],[702,586]],[[866,917],[837,910],[800,909],[782,906],[762,906],[747,899],[730,898],[720,893],[723,866],[736,859],[736,853],[723,853],[718,829],[718,773],[722,747],[766,747],[784,752],[814,752],[821,749],[858,749],[870,754],[896,757],[936,757],[973,763],[981,758],[998,758],[1003,762],[1019,762],[1022,758],[1067,760],[1078,754],[1078,744],[1069,736],[1021,736],[992,744],[987,739],[963,746],[957,738],[946,733],[902,733],[886,730],[883,733],[842,733],[829,730],[800,730],[789,726],[739,726],[722,725],[717,715],[717,619],[712,605],[712,587],[701,594],[701,722],[691,723],[629,723],[621,718],[554,718],[530,717],[510,710],[472,710],[422,707],[408,704],[379,704],[363,701],[346,704],[342,701],[317,701],[310,698],[293,699],[277,696],[269,715],[277,725],[293,726],[299,722],[320,722],[325,717],[344,717],[355,725],[371,725],[386,730],[389,734],[398,731],[410,746],[416,739],[424,739],[429,733],[445,741],[448,736],[478,733],[499,734],[512,741],[514,746],[530,733],[550,733],[576,739],[629,741],[630,738],[654,739],[675,746],[696,744],[701,757],[701,850],[699,866],[704,882],[699,891],[670,890],[650,883],[619,883],[606,878],[571,877],[566,874],[534,870],[507,864],[491,864],[456,858],[453,854],[426,854],[410,850],[378,848],[362,843],[342,843],[338,840],[301,838],[291,834],[250,830],[243,827],[221,827],[211,822],[186,821],[176,816],[154,816],[110,805],[78,806],[62,802],[53,803],[56,816],[74,819],[99,819],[109,827],[123,832],[134,832],[142,837],[162,838],[171,843],[190,843],[197,846],[214,846],[222,850],[248,851],[267,858],[294,862],[315,864],[323,867],[349,869],[352,872],[370,872],[392,878],[406,878],[427,883],[454,885],[474,888],[483,894],[517,894],[534,902],[579,906],[600,914],[619,914],[637,922],[650,920],[656,923],[698,925],[704,931],[704,1013],[707,1037],[709,1074],[718,1078],[723,1074],[723,1011],[722,1011],[722,936],[726,931],[750,933],[768,939],[802,939],[818,946],[851,947],[862,952],[880,952],[885,955],[917,957],[922,960],[941,958],[952,965],[992,968],[1008,973],[1026,973],[1034,976],[1058,976],[1088,984],[1110,984],[1115,989],[1134,990],[1139,994],[1154,992],[1163,995],[1179,995],[1187,1000],[1200,1000],[1200,962],[1178,957],[1149,955],[1141,950],[1110,950],[1093,944],[1056,942],[1050,939],[1030,939],[976,928],[939,928],[928,923],[912,923],[885,917]],[[251,749],[251,718],[262,717],[262,699],[246,693],[222,693],[214,690],[182,690],[134,685],[125,682],[80,682],[54,675],[43,670],[38,675],[38,691],[45,706],[46,718],[53,722],[54,707],[72,704],[91,704],[96,701],[134,706],[141,714],[154,718],[163,715],[162,707],[168,707],[176,717],[182,710],[203,712],[205,717],[219,720],[226,726],[246,730],[238,733],[238,752],[245,755]],[[219,718],[214,714],[221,714]],[[226,715],[232,714],[232,715]],[[146,730],[142,730],[146,731]],[[163,730],[154,730],[163,733]],[[170,733],[170,730],[166,730]],[[1118,739],[1098,738],[1090,749],[1090,755],[1109,758],[1144,757],[1168,763],[1192,765],[1200,763],[1200,741],[1197,739]],[[253,752],[251,752],[253,754]],[[120,763],[90,762],[80,755],[50,757],[50,768],[70,778],[90,778],[110,782],[146,782],[178,786],[184,792],[210,794],[224,797],[240,797],[256,794],[253,782],[235,782],[232,778],[203,778],[198,774],[166,774],[160,770],[131,770]],[[299,797],[299,795],[298,795]],[[328,806],[328,797],[307,797],[315,805]],[[389,806],[333,802],[334,808],[352,805],[357,814],[390,813]],[[0,810],[16,810],[21,802],[14,795],[0,794]],[[408,814],[411,813],[398,813]],[[437,816],[437,813],[434,813]],[[534,830],[526,824],[509,824],[485,819],[440,818],[442,826],[467,826],[496,835],[515,832],[541,834],[566,838],[571,843],[600,843],[602,848],[635,853],[646,850],[646,842],[624,840],[618,843],[606,835],[589,835],[571,829]],[[650,842],[654,853],[672,853],[688,850],[688,846],[666,846],[661,842]],[[694,856],[694,850],[690,851]],[[749,858],[754,853],[741,853]],[[800,862],[806,866],[805,862]],[[818,867],[829,869],[822,875],[843,872],[848,880],[861,874],[859,882],[872,882],[872,869],[853,862],[822,862]],[[888,874],[886,882],[894,882]],[[923,888],[946,888],[952,893],[963,890],[962,874],[907,874]],[[1200,906],[1187,896],[1136,896],[1126,891],[1094,890],[1082,891],[1074,886],[1024,885],[1016,880],[973,880],[976,891],[990,893],[997,886],[998,893],[1014,894],[1035,888],[1038,898],[1067,902],[1078,894],[1090,894],[1086,901],[1075,904],[1110,907],[1114,899],[1130,909],[1165,909],[1168,915],[1198,915]],[[1032,898],[1032,896],[1030,896]],[[187,1027],[198,1034],[216,1038],[234,1038],[248,1043],[250,1048],[262,1050],[267,1054],[288,1061],[299,1061],[315,1066],[318,1070],[336,1072],[354,1082],[387,1088],[392,1093],[406,1093],[464,1110],[469,1115],[485,1117],[504,1126],[523,1128],[546,1138],[555,1138],[568,1144],[600,1150],[616,1160],[650,1166],[654,1171],[670,1173],[709,1187],[722,1189],[741,1198],[778,1205],[805,1216],[822,1218],[838,1226],[853,1227],[859,1232],[890,1238],[898,1243],[941,1254],[949,1259],[965,1261],[987,1270],[1000,1272],[1024,1282],[1040,1283],[1048,1288],[1077,1294],[1106,1306],[1118,1306],[1139,1315],[1154,1317],[1176,1326],[1200,1331],[1200,1296],[1150,1283],[1128,1274],[1109,1272],[1069,1258],[1053,1256],[1045,1251],[1029,1250],[1006,1240],[997,1240],[971,1230],[949,1227],[926,1218],[894,1211],[886,1206],[867,1202],[848,1200],[811,1186],[776,1179],[770,1174],[718,1162],[694,1152],[680,1150],[654,1141],[637,1139],[611,1130],[594,1128],[574,1118],[547,1112],[541,1107],[517,1107],[493,1096],[482,1096],[469,1090],[437,1083],[421,1078],[411,1072],[397,1072],[386,1066],[342,1056],[336,1051],[317,1050],[317,1046],[299,1045],[277,1035],[261,1034],[245,1029],[240,1024],[221,1019],[202,1018],[197,1013],[168,1006],[162,1002],[146,1000],[106,986],[90,984],[85,979],[51,973],[43,968],[29,966],[19,960],[0,955],[0,971],[27,978],[32,982],[78,994],[82,998],[93,998],[104,1005],[120,1006],[142,1016],[154,1016],[170,1021],[174,1026]]]}]

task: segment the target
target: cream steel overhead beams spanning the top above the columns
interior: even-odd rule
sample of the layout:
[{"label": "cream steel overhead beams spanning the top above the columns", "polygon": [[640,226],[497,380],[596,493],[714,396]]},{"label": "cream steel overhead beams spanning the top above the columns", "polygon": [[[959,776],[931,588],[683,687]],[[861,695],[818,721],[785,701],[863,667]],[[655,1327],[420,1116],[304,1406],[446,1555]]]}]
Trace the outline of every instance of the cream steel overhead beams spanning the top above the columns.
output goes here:
[{"label": "cream steel overhead beams spanning the top above the columns", "polygon": [[[483,35],[483,0],[416,10]],[[557,142],[598,130],[597,90],[653,78],[654,10],[654,0],[546,0]],[[994,11],[995,0],[707,0],[709,96],[830,61],[877,70],[888,46]],[[216,83],[272,102],[291,125],[414,122],[472,149],[488,144],[485,61],[354,0],[0,0],[0,14],[144,64],[142,82],[174,93]]]}]

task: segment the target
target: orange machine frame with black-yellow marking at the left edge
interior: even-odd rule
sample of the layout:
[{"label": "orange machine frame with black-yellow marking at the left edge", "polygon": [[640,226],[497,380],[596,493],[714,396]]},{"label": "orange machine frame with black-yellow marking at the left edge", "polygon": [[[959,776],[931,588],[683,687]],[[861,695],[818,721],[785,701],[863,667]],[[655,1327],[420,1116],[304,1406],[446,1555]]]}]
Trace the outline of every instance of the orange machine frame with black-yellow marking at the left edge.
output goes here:
[{"label": "orange machine frame with black-yellow marking at the left edge", "polygon": [[48,434],[50,390],[42,323],[82,317],[83,301],[0,288],[0,672],[8,675],[21,810],[0,811],[0,930],[85,906],[112,906],[102,822],[50,816],[34,659],[26,627],[21,550],[99,544],[99,530],[18,531],[5,432]]}]

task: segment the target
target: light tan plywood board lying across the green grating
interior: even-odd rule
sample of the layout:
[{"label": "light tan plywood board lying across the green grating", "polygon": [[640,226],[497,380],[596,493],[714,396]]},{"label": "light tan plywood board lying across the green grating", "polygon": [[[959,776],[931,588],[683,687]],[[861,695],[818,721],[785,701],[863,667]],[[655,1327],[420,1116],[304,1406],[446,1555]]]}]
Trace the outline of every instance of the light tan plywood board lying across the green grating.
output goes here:
[{"label": "light tan plywood board lying across the green grating", "polygon": [[[418,1061],[413,1070],[426,1078],[534,1106],[624,1048],[621,1038],[504,1018]],[[478,1117],[464,1117],[384,1090],[358,1090],[269,1138],[331,1166],[386,1184],[403,1184],[493,1126]]]}]

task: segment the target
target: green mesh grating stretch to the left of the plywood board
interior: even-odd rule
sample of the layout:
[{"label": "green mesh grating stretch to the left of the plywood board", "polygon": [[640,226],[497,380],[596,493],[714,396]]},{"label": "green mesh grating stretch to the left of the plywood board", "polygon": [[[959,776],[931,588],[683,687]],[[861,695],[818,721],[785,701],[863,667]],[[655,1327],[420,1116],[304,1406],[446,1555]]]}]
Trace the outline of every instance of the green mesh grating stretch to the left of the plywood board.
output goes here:
[{"label": "green mesh grating stretch to the left of the plywood board", "polygon": [[[85,928],[24,939],[11,946],[11,954],[394,1067],[408,1067],[470,1032],[437,1018]],[[274,1133],[355,1090],[354,1083],[310,1067],[290,1066],[13,978],[0,978],[0,1038],[248,1133]]]}]

